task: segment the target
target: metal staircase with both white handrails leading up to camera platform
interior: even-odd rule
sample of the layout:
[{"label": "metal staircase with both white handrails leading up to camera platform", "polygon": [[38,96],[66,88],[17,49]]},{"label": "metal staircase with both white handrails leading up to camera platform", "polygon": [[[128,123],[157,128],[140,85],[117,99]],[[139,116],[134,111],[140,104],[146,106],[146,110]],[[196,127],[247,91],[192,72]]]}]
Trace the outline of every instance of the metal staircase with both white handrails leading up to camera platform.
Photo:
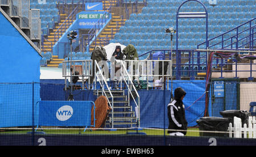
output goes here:
[{"label": "metal staircase with both white handrails leading up to camera platform", "polygon": [[[95,73],[94,78],[94,95],[101,96],[104,95],[108,98],[108,105],[112,110],[109,112],[108,118],[106,120],[105,126],[109,126],[110,128],[121,127],[125,125],[126,127],[137,126],[140,127],[139,121],[139,107],[140,107],[140,99],[138,92],[133,85],[133,81],[129,77],[129,74],[125,68],[123,62],[121,62],[121,71],[123,69],[123,73],[121,73],[121,86],[125,84],[125,88],[121,88],[120,90],[110,90],[109,84],[106,81],[106,78],[102,74],[101,66],[95,63],[95,69],[98,69],[98,73]],[[97,83],[100,84],[100,88],[97,87]],[[134,95],[131,91],[134,91],[138,100],[136,101]],[[135,114],[136,109],[132,107],[130,104],[131,101],[134,101],[135,106],[138,109],[138,115]]]}]

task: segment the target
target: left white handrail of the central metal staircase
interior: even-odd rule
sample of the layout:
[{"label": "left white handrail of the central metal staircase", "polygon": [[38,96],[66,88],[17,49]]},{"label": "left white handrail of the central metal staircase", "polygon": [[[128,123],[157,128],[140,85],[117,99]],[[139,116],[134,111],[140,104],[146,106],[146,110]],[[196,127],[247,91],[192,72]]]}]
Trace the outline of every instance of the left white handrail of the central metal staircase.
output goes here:
[{"label": "left white handrail of the central metal staircase", "polygon": [[[108,86],[108,83],[106,82],[106,79],[105,79],[105,76],[102,74],[102,71],[101,71],[101,68],[100,68],[100,66],[98,65],[98,63],[97,62],[94,62],[95,63],[95,66],[94,66],[94,74],[95,74],[95,77],[94,77],[94,84],[95,84],[95,88],[94,89],[96,89],[96,84],[97,84],[97,82],[99,82],[100,83],[100,86],[101,86],[101,89],[102,89],[102,95],[104,94],[106,97],[108,97],[108,95],[106,94],[106,92],[105,92],[105,87],[107,88],[107,90],[108,90],[108,92],[109,92],[109,95],[110,95],[110,97],[112,98],[111,99],[111,103],[110,103],[110,101],[109,101],[109,99],[107,99],[108,100],[108,103],[109,103],[109,105],[110,105],[110,107],[112,108],[112,128],[114,128],[114,97],[113,97],[113,95],[112,95],[112,92],[110,91],[110,88],[109,88],[109,86]],[[97,70],[98,69],[98,70]],[[96,71],[98,71],[98,74],[100,75],[100,76],[98,76],[97,75],[97,72]]]}]

